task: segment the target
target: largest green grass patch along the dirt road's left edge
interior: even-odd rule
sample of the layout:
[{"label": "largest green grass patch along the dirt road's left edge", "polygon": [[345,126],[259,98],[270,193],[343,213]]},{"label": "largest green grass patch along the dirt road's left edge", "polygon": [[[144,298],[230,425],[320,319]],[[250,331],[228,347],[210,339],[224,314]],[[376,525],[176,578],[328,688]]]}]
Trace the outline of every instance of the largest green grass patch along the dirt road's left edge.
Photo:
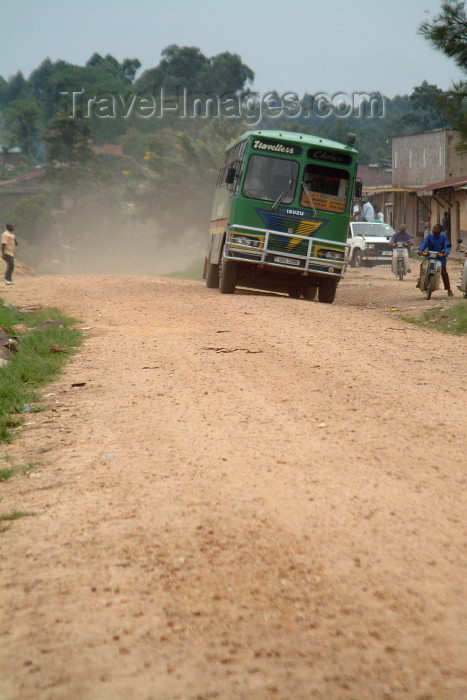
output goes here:
[{"label": "largest green grass patch along the dirt road's left edge", "polygon": [[[49,319],[63,325],[37,330],[39,324]],[[0,299],[0,326],[12,336],[16,324],[26,324],[29,328],[19,338],[18,351],[0,367],[0,443],[11,442],[11,430],[22,423],[23,413],[41,410],[32,405],[40,399],[37,389],[60,373],[70,354],[81,344],[82,333],[72,327],[76,322],[58,309],[24,313],[3,306]]]}]

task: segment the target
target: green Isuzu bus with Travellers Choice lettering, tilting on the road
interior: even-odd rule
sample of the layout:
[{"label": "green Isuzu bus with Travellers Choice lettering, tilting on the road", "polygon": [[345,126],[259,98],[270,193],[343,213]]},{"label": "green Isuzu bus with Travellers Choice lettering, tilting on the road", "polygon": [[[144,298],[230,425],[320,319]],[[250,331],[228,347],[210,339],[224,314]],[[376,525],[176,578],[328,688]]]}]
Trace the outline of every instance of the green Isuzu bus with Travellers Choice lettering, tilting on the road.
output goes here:
[{"label": "green Isuzu bus with Travellers Choice lettering, tilting on the road", "polygon": [[345,274],[356,180],[347,144],[290,131],[248,131],[225,150],[203,279],[332,303]]}]

